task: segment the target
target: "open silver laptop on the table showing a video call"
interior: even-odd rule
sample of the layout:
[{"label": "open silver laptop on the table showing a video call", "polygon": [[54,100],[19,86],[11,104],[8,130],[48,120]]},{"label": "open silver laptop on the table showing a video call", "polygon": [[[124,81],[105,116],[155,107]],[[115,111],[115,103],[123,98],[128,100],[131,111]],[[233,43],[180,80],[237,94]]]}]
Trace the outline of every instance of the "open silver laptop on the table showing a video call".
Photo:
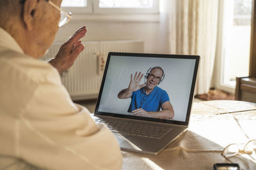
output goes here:
[{"label": "open silver laptop on the table showing a video call", "polygon": [[199,60],[109,52],[93,119],[122,150],[157,155],[188,129]]}]

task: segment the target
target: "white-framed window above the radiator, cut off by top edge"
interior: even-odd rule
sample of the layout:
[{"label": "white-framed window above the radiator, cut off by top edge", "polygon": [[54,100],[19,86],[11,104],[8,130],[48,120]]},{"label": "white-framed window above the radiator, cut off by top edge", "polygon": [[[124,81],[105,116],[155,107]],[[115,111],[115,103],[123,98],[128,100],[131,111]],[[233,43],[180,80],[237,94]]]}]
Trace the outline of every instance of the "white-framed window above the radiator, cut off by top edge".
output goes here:
[{"label": "white-framed window above the radiator, cut off by top edge", "polygon": [[72,13],[159,13],[159,0],[63,0]]}]

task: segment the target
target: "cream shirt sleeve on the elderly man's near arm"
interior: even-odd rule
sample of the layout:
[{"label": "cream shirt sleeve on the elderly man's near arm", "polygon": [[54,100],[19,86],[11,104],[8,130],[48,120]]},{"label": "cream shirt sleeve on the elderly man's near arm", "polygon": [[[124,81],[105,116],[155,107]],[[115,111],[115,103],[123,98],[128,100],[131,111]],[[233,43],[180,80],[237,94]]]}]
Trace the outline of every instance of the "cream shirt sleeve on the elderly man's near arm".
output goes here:
[{"label": "cream shirt sleeve on the elderly man's near arm", "polygon": [[42,169],[121,169],[115,136],[76,105],[51,73],[17,123],[17,155]]}]

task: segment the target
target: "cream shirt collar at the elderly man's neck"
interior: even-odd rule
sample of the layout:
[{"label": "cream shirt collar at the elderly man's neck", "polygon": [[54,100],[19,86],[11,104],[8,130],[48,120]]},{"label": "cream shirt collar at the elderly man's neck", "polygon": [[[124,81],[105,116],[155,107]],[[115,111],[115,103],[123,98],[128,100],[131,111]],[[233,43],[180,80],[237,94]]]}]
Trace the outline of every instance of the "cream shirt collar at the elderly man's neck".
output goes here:
[{"label": "cream shirt collar at the elderly man's neck", "polygon": [[9,48],[11,50],[14,50],[15,52],[24,53],[22,48],[20,48],[18,43],[15,41],[15,39],[1,27],[0,37],[0,46],[3,46],[4,48]]}]

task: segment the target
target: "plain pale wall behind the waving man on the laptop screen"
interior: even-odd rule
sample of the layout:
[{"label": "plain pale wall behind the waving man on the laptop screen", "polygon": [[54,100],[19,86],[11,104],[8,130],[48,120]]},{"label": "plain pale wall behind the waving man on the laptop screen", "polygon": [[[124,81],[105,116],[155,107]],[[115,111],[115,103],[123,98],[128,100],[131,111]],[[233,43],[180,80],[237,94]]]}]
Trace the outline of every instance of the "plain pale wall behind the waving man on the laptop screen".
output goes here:
[{"label": "plain pale wall behind the waving man on the laptop screen", "polygon": [[[146,74],[150,67],[160,66],[164,70],[164,80],[159,87],[166,90],[175,111],[174,120],[185,121],[189,94],[193,78],[195,60],[161,59],[145,57],[113,56],[109,62],[108,74],[104,84],[99,111],[109,113],[127,113],[131,99],[118,99],[118,92],[129,85],[131,73]],[[141,84],[144,83],[144,78]]]}]

